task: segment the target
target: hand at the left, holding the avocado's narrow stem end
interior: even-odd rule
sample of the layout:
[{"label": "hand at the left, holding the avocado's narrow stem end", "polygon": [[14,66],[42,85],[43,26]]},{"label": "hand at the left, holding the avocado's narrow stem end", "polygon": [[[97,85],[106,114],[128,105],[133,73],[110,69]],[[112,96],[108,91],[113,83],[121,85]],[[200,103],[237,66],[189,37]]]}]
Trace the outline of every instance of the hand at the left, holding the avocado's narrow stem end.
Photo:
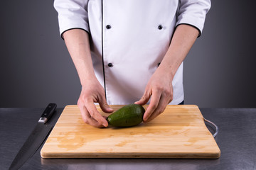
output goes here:
[{"label": "hand at the left, holding the avocado's narrow stem end", "polygon": [[87,80],[85,86],[82,86],[82,91],[78,99],[78,107],[82,114],[82,120],[95,128],[107,127],[107,120],[100,115],[94,103],[99,103],[100,108],[105,113],[113,112],[113,109],[107,104],[105,91],[100,82],[95,79]]}]

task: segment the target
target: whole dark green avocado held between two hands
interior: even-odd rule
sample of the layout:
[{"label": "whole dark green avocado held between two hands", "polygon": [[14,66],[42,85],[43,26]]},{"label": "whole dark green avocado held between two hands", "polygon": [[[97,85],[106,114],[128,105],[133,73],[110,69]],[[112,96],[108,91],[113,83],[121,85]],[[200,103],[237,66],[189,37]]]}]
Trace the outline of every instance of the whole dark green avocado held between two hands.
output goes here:
[{"label": "whole dark green avocado held between two hands", "polygon": [[114,127],[130,127],[142,123],[145,109],[137,104],[130,104],[119,108],[107,117],[109,125]]}]

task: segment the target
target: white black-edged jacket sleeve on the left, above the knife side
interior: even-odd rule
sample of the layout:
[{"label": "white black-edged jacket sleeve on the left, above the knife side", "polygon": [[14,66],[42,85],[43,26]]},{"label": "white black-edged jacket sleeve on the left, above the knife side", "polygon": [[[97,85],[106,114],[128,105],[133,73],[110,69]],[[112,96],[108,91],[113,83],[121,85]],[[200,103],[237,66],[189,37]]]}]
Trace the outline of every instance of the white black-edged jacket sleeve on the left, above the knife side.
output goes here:
[{"label": "white black-edged jacket sleeve on the left, above the knife side", "polygon": [[87,16],[88,0],[55,0],[54,8],[58,12],[60,35],[66,30],[80,28],[89,33]]}]

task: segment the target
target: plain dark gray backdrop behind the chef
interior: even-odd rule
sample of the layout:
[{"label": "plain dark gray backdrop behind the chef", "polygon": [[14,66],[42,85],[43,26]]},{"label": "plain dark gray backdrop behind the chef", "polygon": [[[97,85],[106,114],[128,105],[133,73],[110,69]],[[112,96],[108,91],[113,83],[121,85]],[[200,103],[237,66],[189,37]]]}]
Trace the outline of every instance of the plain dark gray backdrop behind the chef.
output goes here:
[{"label": "plain dark gray backdrop behind the chef", "polygon": [[[255,1],[212,1],[184,62],[185,103],[256,107]],[[1,1],[0,107],[76,104],[80,81],[50,0]]]}]

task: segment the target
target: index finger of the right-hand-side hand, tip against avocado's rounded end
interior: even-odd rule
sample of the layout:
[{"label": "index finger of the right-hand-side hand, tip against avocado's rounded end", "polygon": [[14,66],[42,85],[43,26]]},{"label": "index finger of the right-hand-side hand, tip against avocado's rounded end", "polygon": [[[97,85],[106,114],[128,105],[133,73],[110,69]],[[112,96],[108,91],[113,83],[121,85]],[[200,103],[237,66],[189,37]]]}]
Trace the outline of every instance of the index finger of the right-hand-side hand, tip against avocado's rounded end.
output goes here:
[{"label": "index finger of the right-hand-side hand, tip against avocado's rounded end", "polygon": [[146,112],[144,113],[143,120],[146,122],[146,120],[150,117],[152,113],[156,110],[157,106],[159,105],[161,94],[156,92],[152,93],[151,101],[149,103],[149,107],[146,109]]}]

